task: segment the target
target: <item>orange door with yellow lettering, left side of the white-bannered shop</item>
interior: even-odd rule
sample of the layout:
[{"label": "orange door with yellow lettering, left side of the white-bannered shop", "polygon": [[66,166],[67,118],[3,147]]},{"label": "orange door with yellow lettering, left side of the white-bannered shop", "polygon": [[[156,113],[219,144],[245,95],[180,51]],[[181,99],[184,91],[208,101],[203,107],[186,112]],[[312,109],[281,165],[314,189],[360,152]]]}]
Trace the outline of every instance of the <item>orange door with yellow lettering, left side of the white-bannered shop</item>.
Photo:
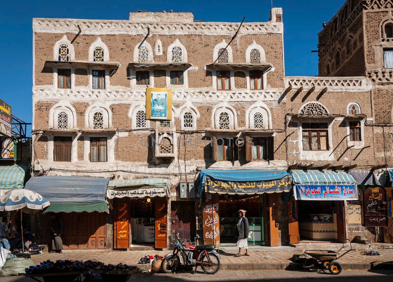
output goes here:
[{"label": "orange door with yellow lettering, left side of the white-bannered shop", "polygon": [[130,247],[130,202],[115,202],[114,247]]}]

